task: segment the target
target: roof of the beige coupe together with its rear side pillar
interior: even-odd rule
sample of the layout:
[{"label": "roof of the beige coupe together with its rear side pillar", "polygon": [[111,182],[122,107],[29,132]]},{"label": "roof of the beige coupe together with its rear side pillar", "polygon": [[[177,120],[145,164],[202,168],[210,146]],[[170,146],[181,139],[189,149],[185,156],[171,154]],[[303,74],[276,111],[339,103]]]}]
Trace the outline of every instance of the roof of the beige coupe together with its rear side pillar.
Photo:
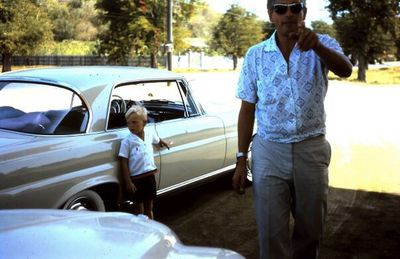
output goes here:
[{"label": "roof of the beige coupe together with its rear side pillar", "polygon": [[163,69],[128,66],[73,66],[17,70],[3,73],[0,81],[53,84],[72,89],[82,97],[92,112],[89,131],[105,129],[113,87],[143,81],[185,80]]}]

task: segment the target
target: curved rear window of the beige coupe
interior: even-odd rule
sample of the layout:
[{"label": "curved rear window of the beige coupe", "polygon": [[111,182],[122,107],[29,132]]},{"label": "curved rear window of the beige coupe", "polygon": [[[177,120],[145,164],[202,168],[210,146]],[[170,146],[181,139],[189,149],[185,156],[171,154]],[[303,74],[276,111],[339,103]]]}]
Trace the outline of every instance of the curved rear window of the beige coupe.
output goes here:
[{"label": "curved rear window of the beige coupe", "polygon": [[88,109],[66,88],[10,82],[0,86],[0,128],[34,134],[86,131]]}]

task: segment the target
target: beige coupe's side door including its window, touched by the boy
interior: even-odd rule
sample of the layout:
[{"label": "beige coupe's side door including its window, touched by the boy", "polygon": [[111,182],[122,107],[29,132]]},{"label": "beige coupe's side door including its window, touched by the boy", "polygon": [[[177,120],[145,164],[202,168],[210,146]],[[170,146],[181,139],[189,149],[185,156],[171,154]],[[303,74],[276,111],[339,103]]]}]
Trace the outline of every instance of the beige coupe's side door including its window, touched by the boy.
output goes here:
[{"label": "beige coupe's side door including its window, touched by the boy", "polygon": [[[153,80],[120,85],[113,96],[124,100],[125,109],[133,104],[146,107],[147,128],[154,125],[158,136],[171,143],[169,150],[155,149],[160,171],[159,192],[200,180],[223,166],[226,153],[223,121],[202,112],[185,81]],[[110,122],[124,122],[123,113],[110,114],[110,119],[116,115],[121,118]]]}]

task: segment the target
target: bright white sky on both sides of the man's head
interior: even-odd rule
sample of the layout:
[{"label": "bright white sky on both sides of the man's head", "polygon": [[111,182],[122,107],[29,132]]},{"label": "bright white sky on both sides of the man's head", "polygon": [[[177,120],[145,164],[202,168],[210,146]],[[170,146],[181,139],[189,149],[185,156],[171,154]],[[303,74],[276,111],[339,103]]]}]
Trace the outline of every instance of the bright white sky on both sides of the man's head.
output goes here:
[{"label": "bright white sky on both sides of the man's head", "polygon": [[[237,4],[249,12],[255,13],[259,18],[268,21],[267,0],[205,0],[209,6],[217,12],[224,13],[232,4]],[[328,0],[307,0],[306,24],[311,21],[323,20],[332,24],[329,12],[324,7],[329,4]]]}]

